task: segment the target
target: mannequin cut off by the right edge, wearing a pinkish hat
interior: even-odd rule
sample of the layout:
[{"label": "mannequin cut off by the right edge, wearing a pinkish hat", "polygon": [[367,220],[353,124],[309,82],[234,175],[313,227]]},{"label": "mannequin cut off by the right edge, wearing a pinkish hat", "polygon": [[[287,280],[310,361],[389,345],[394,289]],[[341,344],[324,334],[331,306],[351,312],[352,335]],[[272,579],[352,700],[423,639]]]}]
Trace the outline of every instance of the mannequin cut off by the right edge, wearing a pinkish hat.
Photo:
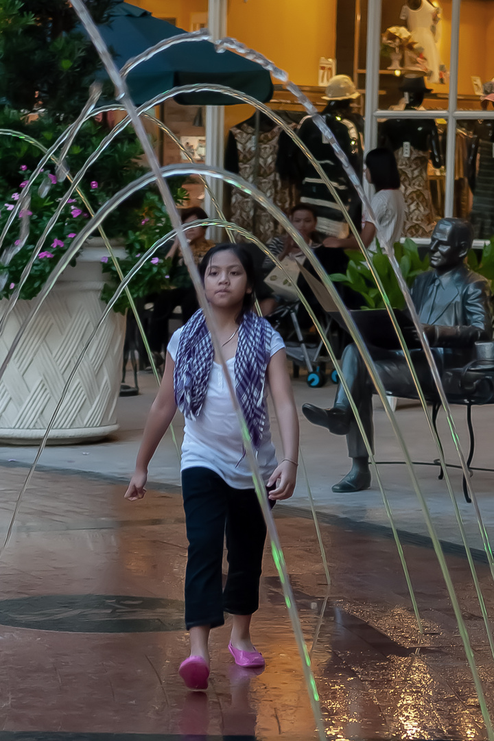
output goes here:
[{"label": "mannequin cut off by the right edge, wearing a pinkish hat", "polygon": [[[490,104],[494,107],[494,81],[484,85],[484,92],[493,87],[481,99],[482,110]],[[473,192],[472,213],[476,239],[490,239],[494,234],[494,121],[475,121],[473,139],[468,161],[468,183]]]}]

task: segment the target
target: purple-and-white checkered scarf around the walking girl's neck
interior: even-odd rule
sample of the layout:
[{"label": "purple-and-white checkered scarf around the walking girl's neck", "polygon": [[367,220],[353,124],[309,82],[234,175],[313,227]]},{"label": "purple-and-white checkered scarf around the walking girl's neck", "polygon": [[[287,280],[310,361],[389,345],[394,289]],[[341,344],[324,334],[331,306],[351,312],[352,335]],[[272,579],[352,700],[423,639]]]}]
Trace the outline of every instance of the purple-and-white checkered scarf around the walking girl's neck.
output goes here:
[{"label": "purple-and-white checkered scarf around the walking girl's neck", "polygon": [[[266,422],[264,385],[272,337],[273,328],[266,319],[252,312],[244,314],[238,329],[235,391],[256,450]],[[173,371],[176,404],[190,419],[196,419],[204,403],[213,357],[211,335],[199,309],[181,330]]]}]

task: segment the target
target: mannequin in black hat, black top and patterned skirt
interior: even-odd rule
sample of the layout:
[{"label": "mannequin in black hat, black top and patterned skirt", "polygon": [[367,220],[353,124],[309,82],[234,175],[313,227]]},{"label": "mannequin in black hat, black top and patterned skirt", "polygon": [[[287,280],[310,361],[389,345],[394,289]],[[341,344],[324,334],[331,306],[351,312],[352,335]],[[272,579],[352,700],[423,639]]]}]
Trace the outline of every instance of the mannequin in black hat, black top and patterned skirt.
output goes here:
[{"label": "mannequin in black hat, black top and patterned skirt", "polygon": [[[431,92],[425,87],[423,75],[405,77],[400,90],[405,99],[408,98],[405,110],[418,110],[425,93]],[[433,167],[443,164],[434,119],[388,119],[381,124],[379,145],[395,153],[406,204],[404,235],[429,237],[433,233],[435,217],[427,166],[429,159]]]}]

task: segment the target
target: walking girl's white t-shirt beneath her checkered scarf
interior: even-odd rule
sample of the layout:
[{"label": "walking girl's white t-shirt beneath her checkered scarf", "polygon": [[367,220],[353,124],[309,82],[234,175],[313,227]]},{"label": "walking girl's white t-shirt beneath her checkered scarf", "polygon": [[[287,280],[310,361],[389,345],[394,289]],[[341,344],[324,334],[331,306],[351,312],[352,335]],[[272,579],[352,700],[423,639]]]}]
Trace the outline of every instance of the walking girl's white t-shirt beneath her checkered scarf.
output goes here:
[{"label": "walking girl's white t-shirt beneath her checkered scarf", "polygon": [[[171,336],[167,351],[175,361],[178,350],[180,328]],[[270,357],[284,348],[281,335],[273,330]],[[235,388],[235,356],[227,360],[227,368]],[[266,384],[267,385],[267,384]],[[180,470],[201,466],[221,476],[228,485],[236,489],[253,488],[252,472],[247,456],[242,458],[243,447],[240,426],[233,409],[232,399],[224,379],[223,368],[213,362],[210,380],[201,411],[196,419],[185,418],[184,441],[181,447]],[[267,483],[276,468],[276,452],[271,442],[270,419],[266,416],[257,461],[264,483]]]}]

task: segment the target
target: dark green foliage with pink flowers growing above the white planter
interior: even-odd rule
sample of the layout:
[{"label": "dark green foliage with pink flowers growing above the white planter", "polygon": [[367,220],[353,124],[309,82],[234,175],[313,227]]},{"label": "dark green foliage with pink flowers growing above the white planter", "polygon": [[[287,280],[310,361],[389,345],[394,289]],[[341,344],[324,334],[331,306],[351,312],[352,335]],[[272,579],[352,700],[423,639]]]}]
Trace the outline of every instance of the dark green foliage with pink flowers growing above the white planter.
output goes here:
[{"label": "dark green foliage with pink flowers growing above the white planter", "polygon": [[[86,5],[96,23],[103,24],[110,20],[117,1],[87,0]],[[69,0],[0,0],[0,129],[19,134],[0,135],[0,228],[4,227],[19,198],[21,184],[30,179],[41,157],[42,148],[30,142],[28,137],[45,148],[53,145],[79,115],[87,101],[89,86],[99,76],[100,70],[99,56],[81,30]],[[67,165],[72,175],[108,133],[110,124],[105,114],[84,123],[67,153]],[[81,230],[84,219],[89,218],[88,212],[96,212],[121,188],[144,173],[147,168],[143,166],[141,157],[141,145],[132,127],[119,133],[99,155],[80,186],[90,208],[76,195],[64,207],[33,264],[21,290],[21,299],[37,296],[61,256],[69,249],[71,240]],[[68,187],[68,180],[56,182],[55,163],[47,165],[45,170],[30,190],[30,213],[23,217],[29,219],[27,241],[21,246],[22,222],[16,219],[2,245],[0,285],[4,285],[0,299],[8,298],[18,285],[44,227]],[[50,179],[50,190],[44,196],[39,193],[43,179],[45,183]],[[170,187],[177,202],[187,198],[181,181],[170,182]],[[104,219],[103,226],[109,238],[124,239],[124,273],[135,265],[137,255],[145,251],[145,245],[150,246],[170,230],[167,214],[153,186],[126,199]],[[130,291],[136,298],[171,285],[170,279],[165,277],[171,274],[170,270],[161,262],[162,256],[158,259],[159,263],[144,266],[142,273],[138,273],[130,283]],[[102,297],[108,300],[116,285],[116,270],[112,272],[111,263],[104,263],[102,267],[109,279]],[[172,268],[179,282],[180,270],[176,265],[170,266]],[[116,310],[125,310],[127,306],[127,299],[122,297]]]}]

